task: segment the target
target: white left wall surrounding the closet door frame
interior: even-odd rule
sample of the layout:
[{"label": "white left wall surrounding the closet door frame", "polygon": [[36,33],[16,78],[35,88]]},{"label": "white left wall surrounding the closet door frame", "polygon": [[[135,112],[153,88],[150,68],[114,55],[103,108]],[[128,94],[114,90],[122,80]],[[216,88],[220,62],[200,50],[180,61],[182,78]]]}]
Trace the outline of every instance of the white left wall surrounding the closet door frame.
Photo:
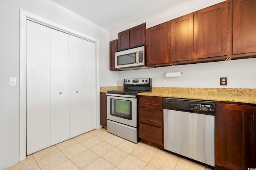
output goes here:
[{"label": "white left wall surrounding the closet door frame", "polygon": [[[116,79],[109,71],[109,31],[51,0],[0,1],[0,169],[19,160],[19,12],[20,9],[100,41],[100,80]],[[9,77],[17,86],[9,86]],[[116,85],[116,82],[110,85]],[[100,82],[100,86],[101,82]]]}]

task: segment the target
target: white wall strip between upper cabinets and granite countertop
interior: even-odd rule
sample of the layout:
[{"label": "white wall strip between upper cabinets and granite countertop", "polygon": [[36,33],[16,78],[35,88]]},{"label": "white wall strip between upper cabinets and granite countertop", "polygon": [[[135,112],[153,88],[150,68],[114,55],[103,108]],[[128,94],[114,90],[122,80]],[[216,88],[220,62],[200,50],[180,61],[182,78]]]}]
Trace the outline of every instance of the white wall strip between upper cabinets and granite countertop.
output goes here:
[{"label": "white wall strip between upper cabinets and granite countertop", "polygon": [[[153,87],[256,88],[255,63],[256,58],[122,71],[118,72],[118,86],[124,78],[152,78]],[[179,71],[181,77],[164,75]],[[228,78],[227,86],[220,86],[220,77]]]}]

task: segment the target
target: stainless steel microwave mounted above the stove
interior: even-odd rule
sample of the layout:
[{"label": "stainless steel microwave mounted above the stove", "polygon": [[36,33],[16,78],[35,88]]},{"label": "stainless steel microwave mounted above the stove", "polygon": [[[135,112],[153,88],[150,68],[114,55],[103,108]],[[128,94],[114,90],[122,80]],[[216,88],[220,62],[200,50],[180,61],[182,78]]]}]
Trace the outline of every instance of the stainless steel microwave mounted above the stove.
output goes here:
[{"label": "stainless steel microwave mounted above the stove", "polygon": [[115,67],[118,70],[136,70],[150,68],[146,66],[145,45],[116,51]]}]

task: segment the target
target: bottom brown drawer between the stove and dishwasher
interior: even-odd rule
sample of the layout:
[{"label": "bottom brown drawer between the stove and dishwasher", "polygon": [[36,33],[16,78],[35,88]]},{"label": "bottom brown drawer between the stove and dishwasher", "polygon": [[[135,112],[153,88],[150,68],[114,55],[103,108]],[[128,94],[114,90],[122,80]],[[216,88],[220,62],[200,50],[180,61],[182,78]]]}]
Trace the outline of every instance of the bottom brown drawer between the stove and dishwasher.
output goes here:
[{"label": "bottom brown drawer between the stove and dishwasher", "polygon": [[155,127],[139,123],[139,137],[147,141],[163,145],[162,127]]}]

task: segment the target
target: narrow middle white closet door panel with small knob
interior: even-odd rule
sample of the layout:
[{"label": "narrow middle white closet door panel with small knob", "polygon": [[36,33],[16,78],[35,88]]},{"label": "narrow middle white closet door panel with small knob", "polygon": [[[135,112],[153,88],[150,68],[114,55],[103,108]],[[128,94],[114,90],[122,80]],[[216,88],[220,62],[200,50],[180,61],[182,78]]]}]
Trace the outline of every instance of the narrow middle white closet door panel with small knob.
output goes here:
[{"label": "narrow middle white closet door panel with small knob", "polygon": [[69,139],[68,34],[51,29],[51,145]]}]

